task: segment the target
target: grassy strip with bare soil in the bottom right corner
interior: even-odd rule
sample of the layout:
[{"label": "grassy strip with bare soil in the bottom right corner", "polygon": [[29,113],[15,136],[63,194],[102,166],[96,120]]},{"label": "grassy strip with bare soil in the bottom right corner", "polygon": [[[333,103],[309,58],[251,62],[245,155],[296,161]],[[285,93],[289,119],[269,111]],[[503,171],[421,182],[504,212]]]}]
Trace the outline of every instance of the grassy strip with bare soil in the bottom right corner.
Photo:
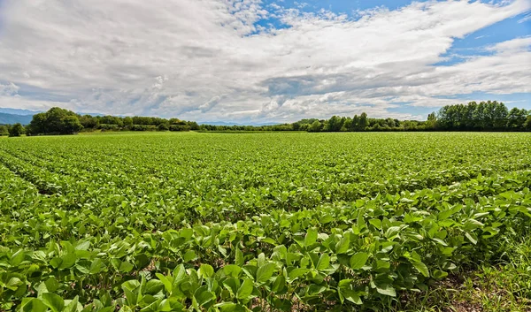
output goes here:
[{"label": "grassy strip with bare soil in the bottom right corner", "polygon": [[461,268],[427,293],[403,293],[388,311],[531,312],[531,232],[513,235],[497,263]]}]

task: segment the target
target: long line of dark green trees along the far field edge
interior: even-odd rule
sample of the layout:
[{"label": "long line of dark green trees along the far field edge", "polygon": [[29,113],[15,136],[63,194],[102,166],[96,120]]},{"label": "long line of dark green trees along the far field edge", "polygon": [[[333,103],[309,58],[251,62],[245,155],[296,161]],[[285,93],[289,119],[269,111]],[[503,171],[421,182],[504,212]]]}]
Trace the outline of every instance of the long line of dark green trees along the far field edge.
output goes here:
[{"label": "long line of dark green trees along the far field edge", "polygon": [[79,115],[58,107],[35,114],[31,123],[0,126],[0,135],[73,134],[81,131],[306,131],[306,132],[366,132],[366,131],[531,131],[531,110],[513,108],[504,103],[470,102],[446,105],[428,115],[427,120],[398,120],[333,116],[329,119],[307,118],[291,124],[271,126],[198,125],[195,121],[178,118],[117,117]]}]

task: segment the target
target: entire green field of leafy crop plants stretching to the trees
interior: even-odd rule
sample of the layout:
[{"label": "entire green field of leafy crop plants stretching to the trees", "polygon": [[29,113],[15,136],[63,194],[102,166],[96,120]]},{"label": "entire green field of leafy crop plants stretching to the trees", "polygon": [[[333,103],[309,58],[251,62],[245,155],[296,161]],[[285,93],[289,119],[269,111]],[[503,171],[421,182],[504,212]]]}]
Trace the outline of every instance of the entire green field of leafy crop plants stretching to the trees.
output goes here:
[{"label": "entire green field of leafy crop plants stretching to the trees", "polygon": [[530,186],[530,133],[0,138],[0,310],[524,311]]}]

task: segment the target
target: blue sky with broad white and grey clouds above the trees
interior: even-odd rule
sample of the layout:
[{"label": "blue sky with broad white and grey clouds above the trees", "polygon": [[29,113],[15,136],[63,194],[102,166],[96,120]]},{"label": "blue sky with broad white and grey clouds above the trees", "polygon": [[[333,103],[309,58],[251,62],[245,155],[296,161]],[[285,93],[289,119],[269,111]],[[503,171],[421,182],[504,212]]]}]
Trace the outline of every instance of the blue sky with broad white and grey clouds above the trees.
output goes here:
[{"label": "blue sky with broad white and grey clouds above the trees", "polygon": [[0,0],[0,107],[243,124],[531,110],[531,0]]}]

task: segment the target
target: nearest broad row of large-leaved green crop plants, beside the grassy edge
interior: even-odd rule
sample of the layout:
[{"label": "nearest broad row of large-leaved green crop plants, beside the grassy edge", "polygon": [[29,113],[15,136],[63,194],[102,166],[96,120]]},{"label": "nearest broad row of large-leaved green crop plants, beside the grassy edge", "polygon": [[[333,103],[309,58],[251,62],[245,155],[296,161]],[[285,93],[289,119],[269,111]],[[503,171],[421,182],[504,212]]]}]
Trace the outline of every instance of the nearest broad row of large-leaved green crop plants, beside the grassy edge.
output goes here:
[{"label": "nearest broad row of large-leaved green crop plants, beside the grassy edge", "polygon": [[[0,280],[11,287],[4,288],[4,295],[15,298],[32,291],[50,293],[45,296],[50,298],[73,298],[75,293],[83,304],[100,298],[87,306],[94,311],[106,305],[145,311],[257,305],[289,310],[294,298],[322,309],[338,302],[385,301],[396,290],[425,290],[429,278],[444,278],[456,264],[484,259],[494,252],[496,241],[528,227],[529,177],[531,171],[520,171],[466,185],[294,213],[278,210],[235,224],[177,231],[135,232],[133,224],[118,223],[114,226],[133,231],[131,235],[112,239],[93,232],[89,239],[50,240],[36,250],[4,247]],[[502,193],[478,197],[481,190],[496,187]],[[451,203],[459,198],[466,200]],[[35,233],[41,231],[50,229],[37,227]],[[47,302],[42,296],[22,304]]]}]

